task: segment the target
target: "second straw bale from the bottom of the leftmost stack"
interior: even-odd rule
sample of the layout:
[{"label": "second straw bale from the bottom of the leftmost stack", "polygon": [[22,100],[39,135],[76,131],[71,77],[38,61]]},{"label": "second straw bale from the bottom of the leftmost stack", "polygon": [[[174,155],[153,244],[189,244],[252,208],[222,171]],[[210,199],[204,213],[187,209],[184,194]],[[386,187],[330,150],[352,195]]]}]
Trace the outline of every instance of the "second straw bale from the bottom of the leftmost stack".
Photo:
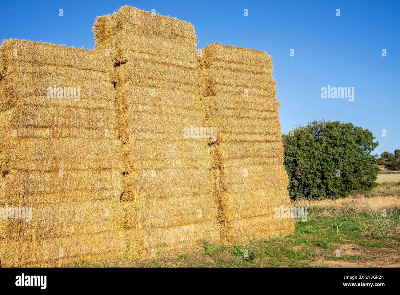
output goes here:
[{"label": "second straw bale from the bottom of the leftmost stack", "polygon": [[123,214],[120,200],[58,204],[17,201],[13,207],[32,208],[32,220],[8,220],[8,240],[37,240],[72,234],[118,230]]}]

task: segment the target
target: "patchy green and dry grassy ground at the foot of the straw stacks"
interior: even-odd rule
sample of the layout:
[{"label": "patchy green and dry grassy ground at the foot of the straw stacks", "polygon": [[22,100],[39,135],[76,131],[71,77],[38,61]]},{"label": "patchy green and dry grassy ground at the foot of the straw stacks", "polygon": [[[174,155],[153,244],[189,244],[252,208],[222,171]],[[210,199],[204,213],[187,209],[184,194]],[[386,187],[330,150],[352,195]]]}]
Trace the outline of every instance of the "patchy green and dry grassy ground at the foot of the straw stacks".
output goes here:
[{"label": "patchy green and dry grassy ground at the foot of the straw stacks", "polygon": [[372,192],[338,200],[298,200],[293,206],[307,206],[308,220],[296,220],[288,236],[235,245],[202,242],[194,251],[74,266],[400,267],[400,182],[380,183]]}]

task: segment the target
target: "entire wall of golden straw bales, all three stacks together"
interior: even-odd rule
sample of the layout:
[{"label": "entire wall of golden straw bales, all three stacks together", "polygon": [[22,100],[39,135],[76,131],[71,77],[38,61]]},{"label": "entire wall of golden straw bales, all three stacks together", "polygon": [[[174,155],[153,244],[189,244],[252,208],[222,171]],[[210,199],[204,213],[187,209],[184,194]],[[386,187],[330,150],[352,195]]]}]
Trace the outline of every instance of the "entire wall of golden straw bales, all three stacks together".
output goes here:
[{"label": "entire wall of golden straw bales, all three stacks together", "polygon": [[192,24],[130,6],[93,32],[95,51],[0,47],[0,208],[32,210],[0,220],[3,267],[293,230],[274,218],[290,200],[269,55],[211,44],[199,64]]}]

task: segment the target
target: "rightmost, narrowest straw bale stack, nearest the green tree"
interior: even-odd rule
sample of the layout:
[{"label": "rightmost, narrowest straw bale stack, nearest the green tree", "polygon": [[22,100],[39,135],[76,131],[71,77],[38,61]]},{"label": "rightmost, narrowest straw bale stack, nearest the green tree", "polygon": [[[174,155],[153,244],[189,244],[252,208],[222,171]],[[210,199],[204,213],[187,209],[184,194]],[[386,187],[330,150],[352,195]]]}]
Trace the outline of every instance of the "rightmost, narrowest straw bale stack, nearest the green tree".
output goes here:
[{"label": "rightmost, narrowest straw bale stack, nearest the green tree", "polygon": [[235,241],[292,231],[292,219],[274,218],[290,198],[271,57],[215,43],[202,49],[200,67],[206,124],[218,130],[212,154],[223,236]]}]

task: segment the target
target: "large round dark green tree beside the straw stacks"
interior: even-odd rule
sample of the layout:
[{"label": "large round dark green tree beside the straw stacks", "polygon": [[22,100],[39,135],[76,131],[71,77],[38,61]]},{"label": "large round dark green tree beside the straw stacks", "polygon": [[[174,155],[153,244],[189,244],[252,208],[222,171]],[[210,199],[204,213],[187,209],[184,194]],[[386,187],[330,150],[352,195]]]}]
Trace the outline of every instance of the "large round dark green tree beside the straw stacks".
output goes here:
[{"label": "large round dark green tree beside the straw stacks", "polygon": [[[292,135],[292,136],[290,136]],[[339,198],[376,186],[378,146],[368,129],[313,121],[282,135],[292,198]]]}]

